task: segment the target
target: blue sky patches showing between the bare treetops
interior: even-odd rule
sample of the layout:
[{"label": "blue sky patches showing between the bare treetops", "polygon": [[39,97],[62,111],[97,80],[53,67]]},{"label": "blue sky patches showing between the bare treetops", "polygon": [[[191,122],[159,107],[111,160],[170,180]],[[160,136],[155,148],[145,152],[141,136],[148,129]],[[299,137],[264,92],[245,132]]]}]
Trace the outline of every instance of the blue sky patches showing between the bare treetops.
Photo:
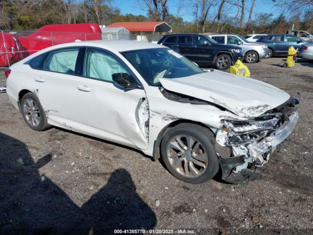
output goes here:
[{"label": "blue sky patches showing between the bare treetops", "polygon": [[[122,14],[133,14],[133,15],[147,15],[147,12],[140,9],[139,2],[143,2],[142,0],[113,0],[112,6],[117,7],[121,10]],[[179,5],[179,0],[168,0],[169,2],[169,12],[170,14],[177,15],[177,9]],[[194,21],[195,17],[192,14],[191,7],[188,8],[189,2],[192,2],[192,0],[184,0],[184,3],[186,5],[186,8],[183,10],[184,13],[180,14],[179,16],[183,18],[184,21]],[[251,0],[246,0],[246,17],[248,17],[248,11],[251,6]],[[227,7],[227,12],[229,12],[230,15],[235,16],[237,14],[237,7],[231,6],[229,4],[225,4],[225,7]],[[188,9],[189,10],[188,12]],[[226,9],[226,8],[225,8]],[[273,5],[271,0],[256,0],[253,13],[272,13],[274,16],[277,16],[278,11],[276,7]]]}]

